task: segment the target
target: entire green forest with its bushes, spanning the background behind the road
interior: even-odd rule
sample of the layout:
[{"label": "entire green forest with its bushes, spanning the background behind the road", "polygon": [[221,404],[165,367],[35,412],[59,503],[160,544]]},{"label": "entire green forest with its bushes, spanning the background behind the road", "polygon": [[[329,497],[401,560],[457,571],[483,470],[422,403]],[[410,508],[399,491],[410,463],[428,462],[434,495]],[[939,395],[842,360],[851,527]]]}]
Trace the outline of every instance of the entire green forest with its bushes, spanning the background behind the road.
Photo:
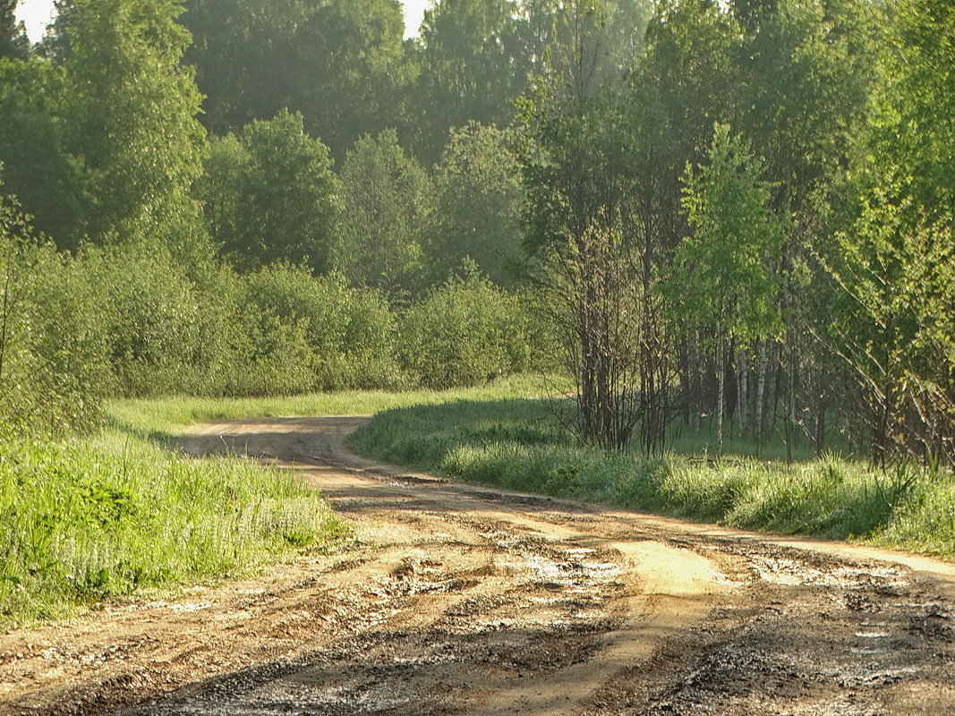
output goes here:
[{"label": "entire green forest with its bushes, spanning the background behind the road", "polygon": [[127,398],[544,373],[588,450],[955,467],[950,0],[437,0],[409,39],[396,0],[58,0],[36,44],[15,5],[8,455]]}]

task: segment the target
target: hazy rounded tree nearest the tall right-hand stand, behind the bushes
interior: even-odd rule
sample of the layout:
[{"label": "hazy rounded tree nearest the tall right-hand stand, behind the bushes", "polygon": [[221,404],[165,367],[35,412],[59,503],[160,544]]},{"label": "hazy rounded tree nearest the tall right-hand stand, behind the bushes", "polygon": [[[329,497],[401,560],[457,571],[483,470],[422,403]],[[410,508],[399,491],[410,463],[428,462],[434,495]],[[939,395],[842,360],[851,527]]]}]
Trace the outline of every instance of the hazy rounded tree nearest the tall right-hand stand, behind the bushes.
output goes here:
[{"label": "hazy rounded tree nearest the tall right-hand stand, behind the bushes", "polygon": [[495,283],[508,282],[508,264],[520,253],[523,199],[514,142],[511,133],[474,122],[451,131],[435,166],[437,219],[428,263],[437,276],[470,258]]}]

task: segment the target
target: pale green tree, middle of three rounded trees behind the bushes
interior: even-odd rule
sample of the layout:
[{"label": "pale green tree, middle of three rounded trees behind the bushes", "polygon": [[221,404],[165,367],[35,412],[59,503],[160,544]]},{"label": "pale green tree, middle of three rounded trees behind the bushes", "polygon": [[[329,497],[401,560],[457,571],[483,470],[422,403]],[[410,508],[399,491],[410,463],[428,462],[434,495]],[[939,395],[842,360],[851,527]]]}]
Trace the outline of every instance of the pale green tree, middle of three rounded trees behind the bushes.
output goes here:
[{"label": "pale green tree, middle of three rounded trees behind the bushes", "polygon": [[434,217],[434,190],[393,130],[362,137],[342,166],[344,221],[335,268],[391,296],[420,287],[422,244]]}]

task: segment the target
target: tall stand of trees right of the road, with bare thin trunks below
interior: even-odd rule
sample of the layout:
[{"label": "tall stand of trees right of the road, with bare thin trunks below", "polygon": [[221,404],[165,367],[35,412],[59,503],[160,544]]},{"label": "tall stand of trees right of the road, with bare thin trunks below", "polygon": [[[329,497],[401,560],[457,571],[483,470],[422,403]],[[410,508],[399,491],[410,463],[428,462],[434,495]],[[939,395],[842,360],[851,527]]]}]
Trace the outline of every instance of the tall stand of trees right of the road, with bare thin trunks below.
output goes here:
[{"label": "tall stand of trees right of the road, with bare thin trunks below", "polygon": [[608,78],[564,17],[522,166],[582,436],[955,464],[955,7],[663,2]]}]

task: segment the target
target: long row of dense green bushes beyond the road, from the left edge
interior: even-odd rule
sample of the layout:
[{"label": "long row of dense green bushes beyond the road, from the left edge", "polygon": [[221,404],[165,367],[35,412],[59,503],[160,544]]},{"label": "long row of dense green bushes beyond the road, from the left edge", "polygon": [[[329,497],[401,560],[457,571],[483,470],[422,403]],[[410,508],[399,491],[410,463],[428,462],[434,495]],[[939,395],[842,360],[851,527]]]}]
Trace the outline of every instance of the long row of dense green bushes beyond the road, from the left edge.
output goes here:
[{"label": "long row of dense green bushes beyond the road, from the left edge", "polygon": [[518,298],[477,275],[399,313],[305,266],[244,275],[136,244],[57,253],[9,200],[0,229],[0,420],[14,432],[93,426],[106,396],[475,385],[533,351]]}]

